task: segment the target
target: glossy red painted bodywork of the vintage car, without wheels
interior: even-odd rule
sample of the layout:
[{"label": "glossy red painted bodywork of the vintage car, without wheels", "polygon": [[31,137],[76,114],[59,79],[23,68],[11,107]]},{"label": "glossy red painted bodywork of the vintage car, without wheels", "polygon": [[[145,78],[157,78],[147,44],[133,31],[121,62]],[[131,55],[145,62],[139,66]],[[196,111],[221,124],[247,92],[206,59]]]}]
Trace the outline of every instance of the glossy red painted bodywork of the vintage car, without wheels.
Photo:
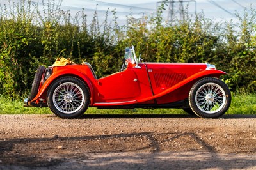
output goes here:
[{"label": "glossy red painted bodywork of the vintage car, without wheels", "polygon": [[46,99],[51,83],[66,75],[83,80],[90,89],[91,107],[128,104],[168,104],[188,98],[193,84],[202,77],[220,77],[220,70],[205,70],[205,64],[195,63],[128,63],[122,72],[97,79],[88,65],[53,67],[52,75],[40,87],[30,102]]}]

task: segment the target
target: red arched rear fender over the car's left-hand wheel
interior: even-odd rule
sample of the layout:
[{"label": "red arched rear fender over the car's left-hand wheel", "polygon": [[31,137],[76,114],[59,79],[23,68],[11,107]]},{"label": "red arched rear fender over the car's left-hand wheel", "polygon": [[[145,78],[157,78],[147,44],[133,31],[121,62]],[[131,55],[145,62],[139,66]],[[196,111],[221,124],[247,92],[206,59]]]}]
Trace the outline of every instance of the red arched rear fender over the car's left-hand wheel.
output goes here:
[{"label": "red arched rear fender over the car's left-hand wheel", "polygon": [[52,75],[47,79],[47,81],[45,81],[45,83],[43,84],[42,88],[40,88],[40,90],[38,91],[37,95],[35,98],[33,98],[30,102],[38,102],[39,98],[42,98],[43,96],[46,95],[47,93],[47,89],[49,88],[49,86],[51,85],[51,83],[58,79],[59,77],[64,77],[64,76],[74,76],[77,77],[79,79],[81,79],[81,81],[84,81],[87,85],[88,88],[90,90],[90,101],[91,104],[93,103],[93,86],[92,86],[92,82],[90,81],[89,77],[84,73],[81,72],[80,70],[77,69],[72,69],[72,72],[70,72],[70,68],[67,69],[61,69],[58,70],[57,72],[52,73]]}]

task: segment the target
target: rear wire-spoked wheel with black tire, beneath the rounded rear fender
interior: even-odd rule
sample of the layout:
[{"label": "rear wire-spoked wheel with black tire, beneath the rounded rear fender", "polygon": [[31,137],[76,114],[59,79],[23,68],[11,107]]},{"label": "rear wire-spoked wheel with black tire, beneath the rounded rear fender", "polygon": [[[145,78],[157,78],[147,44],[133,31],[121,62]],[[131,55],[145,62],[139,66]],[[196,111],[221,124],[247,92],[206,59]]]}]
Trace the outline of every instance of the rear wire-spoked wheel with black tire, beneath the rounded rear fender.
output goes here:
[{"label": "rear wire-spoked wheel with black tire, beneath the rounded rear fender", "polygon": [[90,105],[88,86],[76,77],[60,77],[47,91],[47,104],[60,118],[78,118]]}]

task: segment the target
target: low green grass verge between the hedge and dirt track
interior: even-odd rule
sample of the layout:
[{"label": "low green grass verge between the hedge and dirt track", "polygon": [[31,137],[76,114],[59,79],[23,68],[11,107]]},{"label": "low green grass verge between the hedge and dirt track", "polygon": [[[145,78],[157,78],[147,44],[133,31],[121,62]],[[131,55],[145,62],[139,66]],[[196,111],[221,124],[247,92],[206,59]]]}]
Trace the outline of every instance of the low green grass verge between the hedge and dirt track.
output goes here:
[{"label": "low green grass verge between the hedge and dirt track", "polygon": [[[48,108],[23,107],[22,98],[11,99],[0,95],[0,114],[52,114]],[[97,109],[85,114],[186,114],[182,109]],[[256,114],[256,94],[233,93],[232,104],[226,114]]]}]

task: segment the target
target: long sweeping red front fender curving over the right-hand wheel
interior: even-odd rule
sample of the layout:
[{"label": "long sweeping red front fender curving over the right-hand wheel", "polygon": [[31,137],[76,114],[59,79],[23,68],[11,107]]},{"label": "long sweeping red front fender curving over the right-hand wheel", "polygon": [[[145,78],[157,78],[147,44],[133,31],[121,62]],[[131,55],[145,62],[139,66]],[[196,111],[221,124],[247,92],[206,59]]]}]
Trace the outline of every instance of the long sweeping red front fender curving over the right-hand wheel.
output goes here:
[{"label": "long sweeping red front fender curving over the right-hand wheel", "polygon": [[175,84],[171,88],[168,88],[165,91],[163,91],[161,93],[158,93],[157,95],[154,95],[154,96],[148,97],[148,98],[143,98],[141,100],[138,100],[137,102],[145,102],[145,101],[148,101],[148,100],[154,100],[158,97],[162,97],[163,95],[171,93],[175,89],[178,89],[178,88],[188,84],[191,81],[195,81],[195,80],[201,79],[203,77],[220,77],[220,75],[225,75],[225,74],[227,74],[227,73],[225,73],[221,70],[204,70],[202,72],[198,72],[198,73],[195,73],[194,75],[191,75],[190,77],[188,77],[184,81],[181,81],[181,82]]}]

